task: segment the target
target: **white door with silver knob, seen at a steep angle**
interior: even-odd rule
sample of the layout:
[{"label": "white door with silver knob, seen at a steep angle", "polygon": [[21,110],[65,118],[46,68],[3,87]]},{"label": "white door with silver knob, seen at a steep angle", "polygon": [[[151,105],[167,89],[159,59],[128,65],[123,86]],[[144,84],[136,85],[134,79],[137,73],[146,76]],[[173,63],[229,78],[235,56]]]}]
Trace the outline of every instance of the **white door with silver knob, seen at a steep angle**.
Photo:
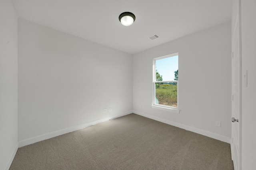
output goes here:
[{"label": "white door with silver knob, seen at a steep angle", "polygon": [[242,62],[240,50],[239,19],[237,17],[234,35],[232,37],[232,57],[233,57],[233,104],[232,104],[232,142],[231,152],[234,162],[234,169],[241,170],[241,113],[242,113]]}]

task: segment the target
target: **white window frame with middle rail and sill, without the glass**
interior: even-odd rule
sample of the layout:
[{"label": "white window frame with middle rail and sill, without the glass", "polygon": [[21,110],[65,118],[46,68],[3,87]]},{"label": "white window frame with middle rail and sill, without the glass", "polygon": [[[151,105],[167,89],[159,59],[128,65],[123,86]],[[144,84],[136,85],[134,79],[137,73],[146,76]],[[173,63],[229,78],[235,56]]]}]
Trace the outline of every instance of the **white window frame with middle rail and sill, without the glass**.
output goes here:
[{"label": "white window frame with middle rail and sill, without the glass", "polygon": [[[169,57],[174,57],[177,56],[178,53],[174,53],[171,55],[166,55],[166,56],[162,56],[162,57],[158,57],[158,58],[154,58],[153,59],[153,104],[152,104],[152,108],[154,109],[162,109],[162,110],[166,110],[166,111],[172,111],[174,113],[180,113],[180,110],[178,108],[178,80],[170,80],[170,81],[156,81],[156,60],[160,60],[160,59],[165,59],[165,58],[169,58]],[[178,55],[179,56],[179,55]],[[164,82],[177,82],[177,107],[172,107],[172,106],[165,106],[165,105],[161,105],[161,104],[156,104],[156,83],[164,83]]]}]

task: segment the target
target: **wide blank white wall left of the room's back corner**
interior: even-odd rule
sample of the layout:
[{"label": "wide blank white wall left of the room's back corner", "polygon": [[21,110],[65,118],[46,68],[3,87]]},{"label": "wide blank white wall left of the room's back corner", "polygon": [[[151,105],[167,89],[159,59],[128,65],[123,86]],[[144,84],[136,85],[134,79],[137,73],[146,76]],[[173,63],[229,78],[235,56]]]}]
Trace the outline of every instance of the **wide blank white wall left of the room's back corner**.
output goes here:
[{"label": "wide blank white wall left of the room's back corner", "polygon": [[18,53],[19,141],[132,112],[132,55],[22,19]]}]

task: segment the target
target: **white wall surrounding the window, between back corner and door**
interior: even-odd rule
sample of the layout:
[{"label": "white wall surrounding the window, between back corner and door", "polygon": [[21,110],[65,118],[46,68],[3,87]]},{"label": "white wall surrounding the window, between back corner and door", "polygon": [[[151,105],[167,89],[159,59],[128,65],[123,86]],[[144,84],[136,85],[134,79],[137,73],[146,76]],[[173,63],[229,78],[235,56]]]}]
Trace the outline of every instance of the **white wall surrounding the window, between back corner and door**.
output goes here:
[{"label": "white wall surrounding the window, between back corner and door", "polygon": [[[151,107],[152,59],[173,53],[179,53],[179,114]],[[230,143],[231,22],[134,55],[133,108],[137,114]]]}]

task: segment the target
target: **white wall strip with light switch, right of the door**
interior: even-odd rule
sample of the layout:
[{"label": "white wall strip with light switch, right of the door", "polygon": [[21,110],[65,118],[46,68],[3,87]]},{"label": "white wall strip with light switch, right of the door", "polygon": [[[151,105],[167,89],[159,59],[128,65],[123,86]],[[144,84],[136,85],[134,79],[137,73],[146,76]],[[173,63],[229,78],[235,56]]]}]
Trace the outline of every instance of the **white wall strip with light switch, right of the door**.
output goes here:
[{"label": "white wall strip with light switch, right of the door", "polygon": [[[256,1],[241,0],[242,170],[256,167]],[[244,75],[248,70],[248,87]]]}]

